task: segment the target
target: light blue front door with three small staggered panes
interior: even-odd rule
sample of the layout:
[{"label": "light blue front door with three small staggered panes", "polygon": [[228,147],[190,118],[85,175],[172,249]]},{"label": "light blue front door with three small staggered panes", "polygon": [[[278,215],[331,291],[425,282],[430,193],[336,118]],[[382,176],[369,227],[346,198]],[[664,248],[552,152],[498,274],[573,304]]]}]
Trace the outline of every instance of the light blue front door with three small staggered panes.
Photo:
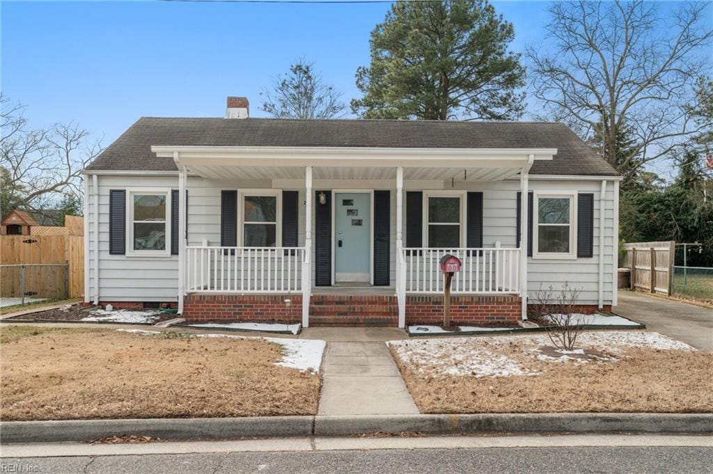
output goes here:
[{"label": "light blue front door with three small staggered panes", "polygon": [[371,280],[371,194],[334,194],[334,282]]}]

